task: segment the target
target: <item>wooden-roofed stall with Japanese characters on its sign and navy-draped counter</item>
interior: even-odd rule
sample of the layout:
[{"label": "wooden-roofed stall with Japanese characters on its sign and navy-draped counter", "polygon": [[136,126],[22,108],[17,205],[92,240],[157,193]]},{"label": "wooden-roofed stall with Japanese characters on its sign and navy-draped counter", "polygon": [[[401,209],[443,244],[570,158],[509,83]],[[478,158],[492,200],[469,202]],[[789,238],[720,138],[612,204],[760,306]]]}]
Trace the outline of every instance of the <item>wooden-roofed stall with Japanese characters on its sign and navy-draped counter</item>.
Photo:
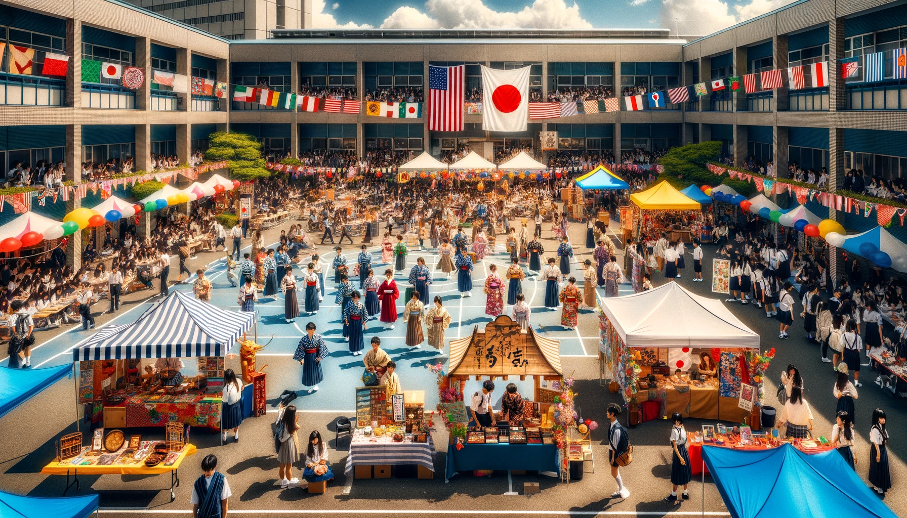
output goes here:
[{"label": "wooden-roofed stall with Japanese characters on its sign and navy-draped counter", "polygon": [[[501,316],[483,330],[473,327],[470,336],[452,340],[450,347],[448,373],[438,370],[442,416],[451,432],[445,479],[471,470],[560,473],[561,450],[554,440],[555,400],[562,379],[560,343],[539,337],[532,328],[523,331]],[[488,428],[470,426],[469,398],[463,397],[466,384],[483,378],[507,381],[510,376],[532,376],[533,400],[523,398],[522,418]]]}]

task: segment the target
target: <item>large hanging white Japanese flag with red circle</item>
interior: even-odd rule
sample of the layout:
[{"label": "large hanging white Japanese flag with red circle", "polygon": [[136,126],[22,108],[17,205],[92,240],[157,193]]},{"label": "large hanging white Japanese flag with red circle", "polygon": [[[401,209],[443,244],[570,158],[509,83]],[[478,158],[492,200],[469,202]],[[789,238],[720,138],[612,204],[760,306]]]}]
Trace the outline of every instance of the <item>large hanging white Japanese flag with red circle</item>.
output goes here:
[{"label": "large hanging white Japanese flag with red circle", "polygon": [[494,70],[482,66],[482,129],[488,132],[525,132],[529,121],[529,71]]}]

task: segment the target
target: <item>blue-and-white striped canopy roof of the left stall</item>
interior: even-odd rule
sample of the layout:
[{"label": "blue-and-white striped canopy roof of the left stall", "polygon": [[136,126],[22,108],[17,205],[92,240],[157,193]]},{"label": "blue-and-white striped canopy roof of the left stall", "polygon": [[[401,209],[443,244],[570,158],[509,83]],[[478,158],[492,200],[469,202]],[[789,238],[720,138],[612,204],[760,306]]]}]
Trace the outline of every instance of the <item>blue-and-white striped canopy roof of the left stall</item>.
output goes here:
[{"label": "blue-and-white striped canopy roof of the left stall", "polygon": [[220,309],[174,290],[135,322],[102,328],[73,349],[73,359],[222,357],[253,323],[254,313]]}]

